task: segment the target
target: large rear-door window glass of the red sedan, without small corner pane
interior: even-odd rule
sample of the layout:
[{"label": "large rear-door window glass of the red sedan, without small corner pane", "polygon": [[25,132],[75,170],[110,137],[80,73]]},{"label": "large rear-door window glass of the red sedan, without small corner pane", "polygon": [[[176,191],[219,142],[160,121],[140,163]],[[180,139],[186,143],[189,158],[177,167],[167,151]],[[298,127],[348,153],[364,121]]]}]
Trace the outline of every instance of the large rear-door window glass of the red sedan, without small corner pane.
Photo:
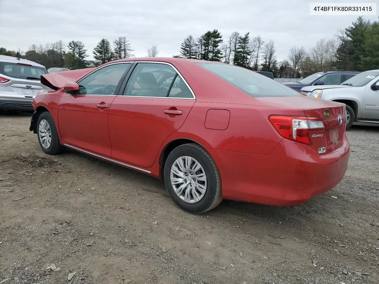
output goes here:
[{"label": "large rear-door window glass of the red sedan, without small corner pane", "polygon": [[124,95],[137,97],[167,97],[174,68],[163,63],[138,63],[126,84]]}]

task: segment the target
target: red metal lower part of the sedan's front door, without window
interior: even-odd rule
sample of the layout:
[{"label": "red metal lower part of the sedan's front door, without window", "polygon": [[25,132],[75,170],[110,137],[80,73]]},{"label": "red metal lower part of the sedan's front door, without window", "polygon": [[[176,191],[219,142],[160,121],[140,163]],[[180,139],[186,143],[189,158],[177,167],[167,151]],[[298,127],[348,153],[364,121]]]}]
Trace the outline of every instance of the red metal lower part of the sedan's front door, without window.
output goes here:
[{"label": "red metal lower part of the sedan's front door, without window", "polygon": [[[115,97],[63,93],[58,107],[58,123],[64,143],[110,157],[108,114]],[[108,105],[108,108],[101,105]]]}]

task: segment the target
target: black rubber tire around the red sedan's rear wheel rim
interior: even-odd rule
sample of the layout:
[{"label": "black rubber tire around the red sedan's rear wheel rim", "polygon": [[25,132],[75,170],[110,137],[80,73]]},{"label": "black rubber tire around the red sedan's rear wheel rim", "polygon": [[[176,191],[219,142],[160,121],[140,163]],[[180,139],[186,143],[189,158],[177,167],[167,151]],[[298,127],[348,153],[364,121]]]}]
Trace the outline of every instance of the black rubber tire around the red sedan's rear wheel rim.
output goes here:
[{"label": "black rubber tire around the red sedan's rear wheel rim", "polygon": [[[204,196],[194,203],[188,203],[180,198],[175,193],[171,184],[171,167],[174,162],[182,156],[190,156],[196,159],[204,169],[207,178],[207,187]],[[210,154],[203,147],[195,143],[183,144],[171,151],[164,163],[164,183],[175,203],[182,209],[194,214],[207,212],[218,206],[222,201],[221,178],[215,161],[213,161]],[[193,196],[193,193],[191,193],[191,196]]]}]

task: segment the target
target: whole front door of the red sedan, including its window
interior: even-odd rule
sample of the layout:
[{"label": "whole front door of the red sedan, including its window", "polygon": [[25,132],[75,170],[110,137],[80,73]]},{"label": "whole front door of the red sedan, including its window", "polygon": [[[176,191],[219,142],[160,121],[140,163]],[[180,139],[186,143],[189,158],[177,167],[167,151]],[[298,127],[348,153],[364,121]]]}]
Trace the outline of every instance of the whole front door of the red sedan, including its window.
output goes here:
[{"label": "whole front door of the red sedan, including its window", "polygon": [[130,66],[130,62],[106,65],[80,80],[78,91],[67,94],[62,90],[58,124],[64,143],[111,156],[108,114]]}]

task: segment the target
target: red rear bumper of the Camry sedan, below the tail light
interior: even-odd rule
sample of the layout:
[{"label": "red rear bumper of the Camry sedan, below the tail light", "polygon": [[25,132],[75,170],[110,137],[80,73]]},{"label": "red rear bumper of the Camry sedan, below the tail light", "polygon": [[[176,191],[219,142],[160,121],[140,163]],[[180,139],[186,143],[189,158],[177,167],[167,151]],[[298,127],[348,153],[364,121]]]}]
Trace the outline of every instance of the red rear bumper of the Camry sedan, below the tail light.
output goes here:
[{"label": "red rear bumper of the Camry sedan, below the tail light", "polygon": [[268,155],[207,149],[218,165],[222,197],[274,206],[302,204],[335,187],[345,175],[350,145],[319,155],[283,139]]}]

